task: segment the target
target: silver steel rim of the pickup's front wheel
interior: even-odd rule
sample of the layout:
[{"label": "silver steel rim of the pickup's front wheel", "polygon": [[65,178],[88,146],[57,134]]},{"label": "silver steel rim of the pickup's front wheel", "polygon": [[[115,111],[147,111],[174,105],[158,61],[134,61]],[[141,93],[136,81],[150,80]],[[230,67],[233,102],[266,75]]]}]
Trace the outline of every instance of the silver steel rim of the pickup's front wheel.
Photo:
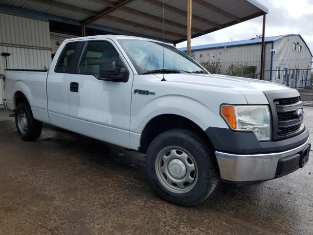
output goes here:
[{"label": "silver steel rim of the pickup's front wheel", "polygon": [[155,168],[160,183],[174,193],[190,191],[198,180],[196,161],[187,150],[179,146],[163,148],[156,156]]}]

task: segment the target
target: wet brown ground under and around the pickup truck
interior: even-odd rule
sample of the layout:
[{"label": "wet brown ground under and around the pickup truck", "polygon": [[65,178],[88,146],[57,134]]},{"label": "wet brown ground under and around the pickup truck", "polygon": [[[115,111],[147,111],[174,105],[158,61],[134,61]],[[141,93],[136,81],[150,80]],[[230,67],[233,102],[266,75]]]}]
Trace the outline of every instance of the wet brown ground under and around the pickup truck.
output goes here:
[{"label": "wet brown ground under and around the pickup truck", "polygon": [[[312,132],[313,107],[304,110]],[[261,185],[222,185],[184,208],[152,192],[144,158],[49,125],[38,141],[22,141],[0,110],[0,235],[313,234],[312,159]]]}]

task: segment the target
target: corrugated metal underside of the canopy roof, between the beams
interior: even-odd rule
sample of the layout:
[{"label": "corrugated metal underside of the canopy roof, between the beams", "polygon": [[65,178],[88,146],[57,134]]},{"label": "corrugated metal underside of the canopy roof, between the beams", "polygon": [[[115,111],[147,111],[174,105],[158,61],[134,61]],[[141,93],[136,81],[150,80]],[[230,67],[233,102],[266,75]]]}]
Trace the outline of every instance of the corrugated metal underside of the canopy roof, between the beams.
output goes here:
[{"label": "corrugated metal underside of the canopy roof, between the beams", "polygon": [[[21,9],[28,9],[40,13],[47,13],[53,16],[60,16],[63,18],[73,19],[77,21],[84,21],[92,15],[96,15],[96,12],[101,12],[107,7],[106,1],[96,1],[96,0],[53,0],[56,2],[64,3],[67,5],[59,6],[58,4],[52,4],[50,1],[38,1],[38,0],[1,0],[1,4],[10,5],[19,7]],[[120,0],[111,0],[112,2],[120,2]],[[157,0],[161,4],[161,0]],[[268,9],[258,3],[256,0],[204,0],[205,2],[212,4],[216,7],[220,7],[224,11],[228,11],[232,15],[240,19],[252,19],[256,16],[263,15],[268,12]],[[164,0],[164,4],[168,4],[174,8],[177,8],[181,11],[187,11],[187,1],[185,0]],[[69,6],[69,7],[68,7]],[[73,6],[72,8],[70,6]],[[129,8],[134,8],[137,11],[142,11],[157,17],[163,17],[163,9],[160,6],[150,3],[148,0],[133,0],[126,4]],[[21,11],[19,11],[21,12]],[[34,13],[34,14],[35,14]],[[27,14],[32,14],[27,12]],[[35,14],[36,15],[36,14]],[[122,11],[122,9],[117,9],[109,13],[110,16],[118,17],[123,20],[134,22],[135,24],[148,25],[155,28],[162,28],[160,22],[147,19],[142,16],[137,16],[128,12]],[[186,13],[187,15],[187,13]],[[186,15],[178,14],[177,12],[171,12],[167,9],[164,9],[164,19],[171,20],[175,23],[186,25]],[[215,22],[220,25],[227,24],[227,26],[236,24],[233,19],[226,17],[219,12],[215,12],[209,8],[202,6],[196,1],[193,2],[193,15],[201,17],[205,20]],[[37,14],[38,16],[38,14]],[[44,15],[41,14],[40,17]],[[47,16],[47,19],[51,19]],[[56,19],[58,21],[58,19]],[[111,19],[112,20],[112,19]],[[62,19],[60,19],[62,21]],[[106,19],[100,18],[95,20],[92,24],[98,24],[107,27],[112,27],[112,30],[121,29],[129,31],[132,34],[131,30],[136,30],[142,32],[145,35],[159,35],[159,32],[154,32],[154,30],[149,29],[139,29],[136,27],[127,24],[120,24],[117,22],[108,21]],[[204,32],[211,32],[217,30],[217,28],[211,24],[203,23],[197,19],[193,19],[193,25],[197,29],[201,29]],[[165,24],[165,30],[176,32],[181,35],[186,35],[186,29],[179,28],[170,24]],[[104,27],[104,28],[105,28]],[[105,30],[105,31],[107,31]],[[125,32],[124,32],[125,33]],[[199,36],[200,34],[196,31],[193,31],[193,37]],[[185,37],[173,37],[165,35],[167,40],[174,40],[176,43],[184,41]]]}]

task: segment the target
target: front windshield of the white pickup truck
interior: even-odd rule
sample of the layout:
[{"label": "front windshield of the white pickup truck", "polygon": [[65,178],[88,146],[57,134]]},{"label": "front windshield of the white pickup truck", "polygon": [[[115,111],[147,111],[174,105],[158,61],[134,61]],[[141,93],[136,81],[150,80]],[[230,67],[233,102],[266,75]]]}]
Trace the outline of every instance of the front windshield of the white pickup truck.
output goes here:
[{"label": "front windshield of the white pickup truck", "polygon": [[[163,43],[138,40],[118,39],[118,43],[124,49],[132,61],[138,74],[144,74],[155,70],[163,72]],[[182,73],[205,71],[201,65],[176,47],[164,44],[164,69],[177,70]],[[161,73],[155,71],[155,73]],[[167,73],[167,71],[164,71]]]}]

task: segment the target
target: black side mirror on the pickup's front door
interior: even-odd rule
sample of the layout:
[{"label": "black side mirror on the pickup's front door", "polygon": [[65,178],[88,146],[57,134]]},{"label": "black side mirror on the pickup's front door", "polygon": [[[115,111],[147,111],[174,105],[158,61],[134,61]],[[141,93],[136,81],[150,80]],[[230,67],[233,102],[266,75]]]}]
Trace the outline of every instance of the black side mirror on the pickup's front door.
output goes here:
[{"label": "black side mirror on the pickup's front door", "polygon": [[115,62],[101,62],[100,63],[100,79],[106,81],[116,81],[116,82],[127,82],[129,77],[129,72],[125,68],[126,66],[118,58],[117,65]]}]

